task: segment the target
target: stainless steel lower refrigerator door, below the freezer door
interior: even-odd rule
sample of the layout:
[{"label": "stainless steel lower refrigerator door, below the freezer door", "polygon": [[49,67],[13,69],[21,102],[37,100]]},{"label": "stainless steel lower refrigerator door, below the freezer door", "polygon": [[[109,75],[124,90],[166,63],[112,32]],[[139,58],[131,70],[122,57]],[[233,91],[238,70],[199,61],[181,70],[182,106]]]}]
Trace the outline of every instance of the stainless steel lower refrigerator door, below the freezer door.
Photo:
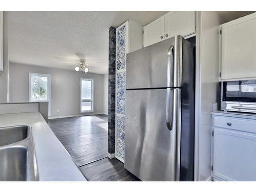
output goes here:
[{"label": "stainless steel lower refrigerator door, below the freezer door", "polygon": [[[126,91],[124,167],[142,181],[179,180],[179,129],[170,131],[166,125],[166,93],[166,89]],[[172,97],[173,93],[171,89]]]}]

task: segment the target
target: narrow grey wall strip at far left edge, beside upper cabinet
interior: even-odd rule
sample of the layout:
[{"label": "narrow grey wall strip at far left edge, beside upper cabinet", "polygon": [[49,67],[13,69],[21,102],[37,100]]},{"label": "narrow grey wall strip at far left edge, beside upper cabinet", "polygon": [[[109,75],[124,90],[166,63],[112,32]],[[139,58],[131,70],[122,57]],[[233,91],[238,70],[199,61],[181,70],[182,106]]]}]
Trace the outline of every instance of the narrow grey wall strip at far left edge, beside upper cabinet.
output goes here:
[{"label": "narrow grey wall strip at far left edge, beside upper cabinet", "polygon": [[4,11],[3,22],[3,71],[0,74],[0,103],[8,102],[8,12],[6,11]]}]

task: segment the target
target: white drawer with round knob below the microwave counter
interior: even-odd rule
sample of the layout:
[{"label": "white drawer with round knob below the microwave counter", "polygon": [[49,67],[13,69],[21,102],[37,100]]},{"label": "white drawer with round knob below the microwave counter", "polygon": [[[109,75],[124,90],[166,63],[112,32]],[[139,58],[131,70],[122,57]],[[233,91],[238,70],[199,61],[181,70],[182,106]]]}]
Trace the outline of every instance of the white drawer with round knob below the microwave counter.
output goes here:
[{"label": "white drawer with round knob below the microwave counter", "polygon": [[212,125],[231,130],[256,133],[256,120],[223,116],[212,116]]}]

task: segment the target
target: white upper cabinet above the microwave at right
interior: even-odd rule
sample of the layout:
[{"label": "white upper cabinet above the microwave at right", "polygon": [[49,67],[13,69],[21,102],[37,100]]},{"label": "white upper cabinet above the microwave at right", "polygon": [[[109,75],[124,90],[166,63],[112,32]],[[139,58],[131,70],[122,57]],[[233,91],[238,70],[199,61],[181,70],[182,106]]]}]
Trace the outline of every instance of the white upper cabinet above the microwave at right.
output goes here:
[{"label": "white upper cabinet above the microwave at right", "polygon": [[256,13],[220,26],[220,81],[256,78]]}]

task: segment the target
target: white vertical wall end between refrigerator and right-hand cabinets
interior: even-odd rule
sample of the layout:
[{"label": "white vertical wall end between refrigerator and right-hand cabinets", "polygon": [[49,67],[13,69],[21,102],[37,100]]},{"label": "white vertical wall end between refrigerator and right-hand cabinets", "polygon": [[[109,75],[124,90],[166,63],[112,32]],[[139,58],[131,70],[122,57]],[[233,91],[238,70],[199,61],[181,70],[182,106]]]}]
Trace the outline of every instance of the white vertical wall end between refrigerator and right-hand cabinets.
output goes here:
[{"label": "white vertical wall end between refrigerator and right-hand cabinets", "polygon": [[195,180],[210,178],[211,103],[217,102],[219,65],[219,25],[222,18],[216,11],[202,11],[197,26],[196,72],[196,139]]}]

